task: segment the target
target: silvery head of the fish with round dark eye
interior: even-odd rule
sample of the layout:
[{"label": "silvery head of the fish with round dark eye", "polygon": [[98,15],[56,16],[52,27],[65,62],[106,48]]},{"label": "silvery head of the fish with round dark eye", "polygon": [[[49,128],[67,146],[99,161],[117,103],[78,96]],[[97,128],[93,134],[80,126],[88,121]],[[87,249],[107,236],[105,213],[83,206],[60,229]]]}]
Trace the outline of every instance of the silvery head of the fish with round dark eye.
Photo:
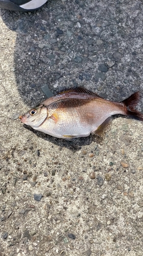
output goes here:
[{"label": "silvery head of the fish with round dark eye", "polygon": [[22,123],[35,128],[41,125],[47,116],[47,108],[45,108],[43,105],[39,105],[25,113],[23,116],[19,116],[19,119]]}]

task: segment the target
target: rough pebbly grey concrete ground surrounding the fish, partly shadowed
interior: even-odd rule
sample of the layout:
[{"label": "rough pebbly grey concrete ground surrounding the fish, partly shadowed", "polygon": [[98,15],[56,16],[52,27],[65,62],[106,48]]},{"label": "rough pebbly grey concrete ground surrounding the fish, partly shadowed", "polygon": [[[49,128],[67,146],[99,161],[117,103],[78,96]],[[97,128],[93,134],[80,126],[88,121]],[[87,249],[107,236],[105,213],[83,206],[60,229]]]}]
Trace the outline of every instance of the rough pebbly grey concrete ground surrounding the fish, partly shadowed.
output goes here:
[{"label": "rough pebbly grey concrete ground surrounding the fish, partly shadowed", "polygon": [[143,124],[118,116],[103,139],[68,142],[16,119],[45,98],[44,84],[115,101],[143,93],[142,1],[0,14],[0,255],[142,255]]}]

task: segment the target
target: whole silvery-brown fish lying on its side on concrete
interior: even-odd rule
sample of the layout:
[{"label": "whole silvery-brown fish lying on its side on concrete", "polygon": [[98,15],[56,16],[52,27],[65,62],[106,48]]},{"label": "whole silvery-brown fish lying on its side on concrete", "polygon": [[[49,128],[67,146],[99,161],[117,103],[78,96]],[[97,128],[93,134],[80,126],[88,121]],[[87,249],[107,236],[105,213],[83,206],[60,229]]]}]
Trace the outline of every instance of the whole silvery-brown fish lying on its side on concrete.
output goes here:
[{"label": "whole silvery-brown fish lying on its side on concrete", "polygon": [[66,140],[93,133],[103,136],[112,115],[121,114],[143,121],[143,114],[135,110],[139,99],[140,93],[135,92],[121,102],[114,102],[77,87],[47,98],[19,119],[37,131]]}]

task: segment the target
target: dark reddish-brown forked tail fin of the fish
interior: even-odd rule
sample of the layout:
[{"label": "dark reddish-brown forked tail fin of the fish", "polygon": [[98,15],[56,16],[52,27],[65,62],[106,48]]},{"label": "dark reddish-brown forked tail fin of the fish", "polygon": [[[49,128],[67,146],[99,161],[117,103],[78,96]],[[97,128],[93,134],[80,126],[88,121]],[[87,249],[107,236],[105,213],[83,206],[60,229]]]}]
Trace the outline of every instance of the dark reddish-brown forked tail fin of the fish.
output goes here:
[{"label": "dark reddish-brown forked tail fin of the fish", "polygon": [[137,110],[135,110],[135,106],[137,105],[140,99],[140,93],[135,92],[129,98],[122,101],[126,106],[126,115],[130,116],[134,119],[143,121],[143,114]]}]

